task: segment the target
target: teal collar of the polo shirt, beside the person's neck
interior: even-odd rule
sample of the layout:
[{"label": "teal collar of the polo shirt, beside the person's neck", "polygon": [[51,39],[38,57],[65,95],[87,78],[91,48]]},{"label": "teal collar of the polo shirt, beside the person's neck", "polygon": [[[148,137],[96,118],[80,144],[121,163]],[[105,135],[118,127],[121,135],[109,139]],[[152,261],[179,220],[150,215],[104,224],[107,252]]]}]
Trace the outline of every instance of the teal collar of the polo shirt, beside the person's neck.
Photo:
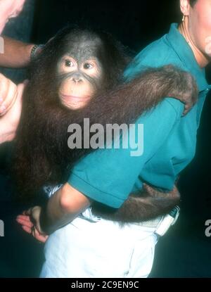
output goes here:
[{"label": "teal collar of the polo shirt, beside the person's neck", "polygon": [[205,69],[200,68],[191,47],[188,45],[186,39],[179,32],[177,27],[177,23],[172,23],[170,32],[166,34],[167,41],[170,43],[175,53],[177,53],[177,56],[180,58],[181,62],[184,63],[184,66],[196,78],[199,91],[210,89],[211,85],[207,83],[205,78]]}]

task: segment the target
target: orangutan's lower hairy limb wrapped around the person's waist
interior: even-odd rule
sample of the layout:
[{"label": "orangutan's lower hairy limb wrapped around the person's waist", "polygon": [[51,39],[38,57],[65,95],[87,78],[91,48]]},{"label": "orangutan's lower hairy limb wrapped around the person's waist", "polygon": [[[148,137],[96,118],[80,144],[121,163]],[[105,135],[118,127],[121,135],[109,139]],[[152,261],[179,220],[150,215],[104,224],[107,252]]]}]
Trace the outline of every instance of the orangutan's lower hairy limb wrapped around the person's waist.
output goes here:
[{"label": "orangutan's lower hairy limb wrapped around the person's waist", "polygon": [[130,194],[119,209],[94,202],[91,210],[94,215],[125,224],[151,220],[165,215],[175,205],[178,205],[179,201],[180,193],[177,186],[174,186],[172,191],[165,193],[143,184],[143,191],[136,195]]}]

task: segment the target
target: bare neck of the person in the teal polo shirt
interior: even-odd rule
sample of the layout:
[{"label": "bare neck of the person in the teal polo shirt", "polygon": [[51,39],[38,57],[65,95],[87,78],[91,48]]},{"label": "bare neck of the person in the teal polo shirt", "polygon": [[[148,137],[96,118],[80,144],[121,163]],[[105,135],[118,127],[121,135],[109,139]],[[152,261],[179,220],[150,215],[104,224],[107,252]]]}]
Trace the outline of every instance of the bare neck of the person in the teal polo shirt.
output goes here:
[{"label": "bare neck of the person in the teal polo shirt", "polygon": [[190,33],[188,31],[188,17],[185,18],[185,20],[179,25],[178,27],[179,32],[184,36],[186,39],[186,42],[189,46],[191,46],[191,49],[193,51],[193,54],[196,58],[196,61],[198,65],[200,65],[200,68],[205,68],[205,66],[210,62],[209,59],[200,51],[200,49],[197,48],[197,46],[194,44],[193,40],[191,39]]}]

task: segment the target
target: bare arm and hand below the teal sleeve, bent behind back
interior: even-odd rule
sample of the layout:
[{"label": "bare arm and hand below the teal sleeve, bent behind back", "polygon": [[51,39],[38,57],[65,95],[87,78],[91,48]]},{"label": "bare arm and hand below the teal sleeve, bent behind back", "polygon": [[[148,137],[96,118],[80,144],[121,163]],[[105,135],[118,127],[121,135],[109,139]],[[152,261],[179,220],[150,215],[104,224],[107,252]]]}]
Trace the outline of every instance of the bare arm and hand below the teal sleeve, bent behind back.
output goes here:
[{"label": "bare arm and hand below the teal sleeve, bent behind back", "polygon": [[30,234],[34,226],[35,231],[32,235],[37,240],[44,242],[46,234],[51,234],[56,229],[71,222],[90,204],[91,200],[87,196],[84,196],[70,184],[64,184],[49,198],[45,208],[39,206],[30,208],[23,215],[19,215],[17,221]]}]

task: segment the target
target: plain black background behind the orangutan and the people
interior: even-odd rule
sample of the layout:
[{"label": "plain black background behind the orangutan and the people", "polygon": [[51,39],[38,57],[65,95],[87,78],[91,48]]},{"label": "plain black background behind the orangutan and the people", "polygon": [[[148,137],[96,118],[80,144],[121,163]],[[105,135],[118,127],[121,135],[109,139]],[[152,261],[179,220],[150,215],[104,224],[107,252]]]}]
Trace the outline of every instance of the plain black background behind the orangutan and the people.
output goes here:
[{"label": "plain black background behind the orangutan and the people", "polygon": [[[168,1],[35,1],[32,42],[45,43],[61,27],[86,24],[111,32],[135,52],[168,32],[179,22],[179,0]],[[210,79],[210,68],[207,69]],[[181,215],[158,242],[151,277],[211,277],[211,237],[205,236],[205,220],[211,219],[211,102],[207,96],[196,157],[181,174]],[[1,153],[1,207],[6,236],[0,238],[0,277],[37,277],[42,246],[23,234],[14,221],[25,206],[11,203],[11,181],[6,168],[8,148]],[[1,200],[0,198],[0,200]],[[9,227],[8,227],[9,226]]]}]

